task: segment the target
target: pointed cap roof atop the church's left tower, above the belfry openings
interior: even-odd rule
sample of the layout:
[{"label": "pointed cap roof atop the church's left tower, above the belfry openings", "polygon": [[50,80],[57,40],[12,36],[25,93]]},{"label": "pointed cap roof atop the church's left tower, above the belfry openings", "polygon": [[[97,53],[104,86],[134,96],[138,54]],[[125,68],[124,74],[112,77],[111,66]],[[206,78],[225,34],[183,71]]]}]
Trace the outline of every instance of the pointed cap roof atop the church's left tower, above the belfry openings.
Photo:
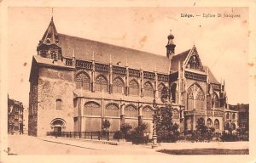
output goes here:
[{"label": "pointed cap roof atop the church's left tower, above the belfry openings", "polygon": [[44,32],[44,36],[42,37],[41,41],[39,42],[39,46],[41,44],[58,45],[58,43],[59,43],[58,32],[56,31],[55,23],[53,21],[53,16],[52,16],[47,30]]}]

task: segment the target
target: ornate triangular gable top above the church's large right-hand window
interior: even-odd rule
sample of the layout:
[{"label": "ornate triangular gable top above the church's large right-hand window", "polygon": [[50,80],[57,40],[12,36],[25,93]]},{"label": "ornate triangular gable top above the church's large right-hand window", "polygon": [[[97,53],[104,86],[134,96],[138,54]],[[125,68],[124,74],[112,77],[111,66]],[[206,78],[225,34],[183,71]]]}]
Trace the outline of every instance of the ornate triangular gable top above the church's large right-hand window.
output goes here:
[{"label": "ornate triangular gable top above the church's large right-hand window", "polygon": [[193,48],[191,48],[187,59],[185,59],[184,66],[187,69],[204,71],[203,65],[201,64],[201,59],[197,53],[195,45],[193,46]]}]

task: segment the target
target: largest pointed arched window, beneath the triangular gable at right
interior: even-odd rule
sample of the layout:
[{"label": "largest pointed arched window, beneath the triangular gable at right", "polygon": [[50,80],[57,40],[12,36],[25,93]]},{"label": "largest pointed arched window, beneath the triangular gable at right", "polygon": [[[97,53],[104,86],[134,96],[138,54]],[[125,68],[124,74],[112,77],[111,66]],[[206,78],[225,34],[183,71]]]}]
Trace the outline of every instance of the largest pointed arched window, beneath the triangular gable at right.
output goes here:
[{"label": "largest pointed arched window, beneath the triangular gable at right", "polygon": [[187,93],[188,110],[205,110],[205,94],[197,83],[192,84]]}]

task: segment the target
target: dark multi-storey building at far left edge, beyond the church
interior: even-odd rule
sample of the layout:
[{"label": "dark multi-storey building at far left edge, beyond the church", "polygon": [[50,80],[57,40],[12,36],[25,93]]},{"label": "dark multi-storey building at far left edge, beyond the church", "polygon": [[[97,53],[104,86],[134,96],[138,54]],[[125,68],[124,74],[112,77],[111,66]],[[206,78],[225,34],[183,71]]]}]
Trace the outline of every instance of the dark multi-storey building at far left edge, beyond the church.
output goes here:
[{"label": "dark multi-storey building at far left edge, beyond the church", "polygon": [[8,97],[8,133],[23,134],[23,104]]}]

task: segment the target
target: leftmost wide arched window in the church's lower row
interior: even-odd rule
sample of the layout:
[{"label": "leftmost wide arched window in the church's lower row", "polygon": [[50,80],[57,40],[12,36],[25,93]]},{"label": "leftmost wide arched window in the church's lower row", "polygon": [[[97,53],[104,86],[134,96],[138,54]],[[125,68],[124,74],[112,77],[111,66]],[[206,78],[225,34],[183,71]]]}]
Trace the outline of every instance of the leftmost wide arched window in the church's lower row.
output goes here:
[{"label": "leftmost wide arched window in the church's lower row", "polygon": [[84,104],[84,115],[102,115],[102,108],[100,104],[90,101]]}]

